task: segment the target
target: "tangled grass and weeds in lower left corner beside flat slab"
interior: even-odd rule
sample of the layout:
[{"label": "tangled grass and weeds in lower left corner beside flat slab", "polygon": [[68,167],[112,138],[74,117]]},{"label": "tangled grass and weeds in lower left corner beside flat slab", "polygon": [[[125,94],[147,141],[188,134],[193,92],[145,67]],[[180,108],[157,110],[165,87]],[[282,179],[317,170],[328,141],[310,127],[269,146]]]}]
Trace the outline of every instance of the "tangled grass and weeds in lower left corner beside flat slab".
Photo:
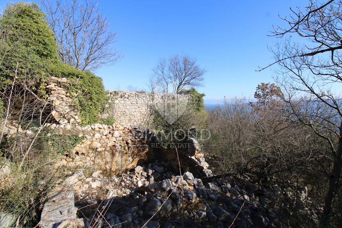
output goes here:
[{"label": "tangled grass and weeds in lower left corner beside flat slab", "polygon": [[5,150],[0,165],[10,169],[0,182],[0,214],[12,214],[16,227],[34,227],[39,222],[41,199],[56,183],[55,178],[61,177],[44,165],[49,159],[46,143],[37,140],[30,150],[26,148],[32,139],[38,138],[17,135],[1,142]]}]

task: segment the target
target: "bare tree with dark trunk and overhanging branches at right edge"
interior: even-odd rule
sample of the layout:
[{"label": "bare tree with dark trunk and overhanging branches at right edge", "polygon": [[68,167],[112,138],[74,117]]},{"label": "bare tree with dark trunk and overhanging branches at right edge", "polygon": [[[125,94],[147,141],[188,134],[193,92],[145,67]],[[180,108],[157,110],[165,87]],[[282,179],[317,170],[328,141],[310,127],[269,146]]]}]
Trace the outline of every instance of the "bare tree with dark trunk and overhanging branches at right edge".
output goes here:
[{"label": "bare tree with dark trunk and overhanging branches at right edge", "polygon": [[[291,11],[290,19],[284,18],[289,28],[275,28],[273,36],[282,42],[271,49],[275,62],[269,66],[279,66],[275,72],[282,76],[277,80],[289,119],[310,127],[329,145],[320,151],[329,161],[322,167],[328,190],[320,219],[321,226],[327,227],[341,186],[342,100],[336,91],[342,83],[342,2],[331,0],[318,5],[311,1],[304,11]],[[291,36],[302,43],[292,42]]]}]

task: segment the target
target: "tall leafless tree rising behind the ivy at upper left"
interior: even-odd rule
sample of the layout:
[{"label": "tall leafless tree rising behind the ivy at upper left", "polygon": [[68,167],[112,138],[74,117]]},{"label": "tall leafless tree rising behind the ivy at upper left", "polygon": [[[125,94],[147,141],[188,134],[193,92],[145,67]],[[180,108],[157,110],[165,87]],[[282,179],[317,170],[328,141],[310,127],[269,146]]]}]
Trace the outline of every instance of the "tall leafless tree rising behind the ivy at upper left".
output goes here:
[{"label": "tall leafless tree rising behind the ivy at upper left", "polygon": [[109,30],[109,23],[95,1],[42,0],[41,4],[60,46],[62,62],[92,71],[122,57],[112,47],[116,33]]}]

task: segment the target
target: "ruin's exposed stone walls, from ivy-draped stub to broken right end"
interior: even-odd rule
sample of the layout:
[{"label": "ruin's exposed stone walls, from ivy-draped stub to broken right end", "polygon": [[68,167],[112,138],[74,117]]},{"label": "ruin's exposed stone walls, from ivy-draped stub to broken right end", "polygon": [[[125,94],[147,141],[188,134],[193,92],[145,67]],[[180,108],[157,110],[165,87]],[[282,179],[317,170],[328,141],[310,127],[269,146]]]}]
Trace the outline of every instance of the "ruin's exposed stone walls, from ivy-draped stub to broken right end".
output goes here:
[{"label": "ruin's exposed stone walls, from ivy-draped stub to broken right end", "polygon": [[[82,128],[78,125],[79,112],[74,108],[73,98],[64,89],[67,83],[69,81],[65,78],[50,78],[46,85],[46,91],[49,94],[47,103],[50,108],[46,112],[49,112],[47,115],[53,121],[43,124],[40,128],[49,126],[50,129],[60,134],[78,134],[85,136],[86,139],[70,153],[65,151],[66,154],[56,166],[78,168],[91,166],[95,170],[103,171],[107,176],[122,174],[137,165],[156,159],[169,161],[173,167],[178,167],[175,149],[163,151],[152,149],[150,144],[153,141],[146,138],[148,130],[144,133],[137,126],[148,126],[152,109],[162,101],[163,97],[160,94],[109,91],[110,99],[103,115],[112,115],[116,123],[111,126],[92,124]],[[20,125],[13,122],[5,127],[4,133],[12,135],[17,129],[22,132]],[[36,132],[38,128],[34,130]],[[27,130],[23,133],[32,136],[32,131]],[[193,149],[193,152],[191,149],[179,149],[181,167],[184,171],[193,172],[197,177],[209,176],[211,172],[206,171],[207,164],[204,163],[203,154],[198,152],[197,144],[197,142],[192,142],[192,147],[197,148]],[[199,163],[204,166],[202,167]]]}]

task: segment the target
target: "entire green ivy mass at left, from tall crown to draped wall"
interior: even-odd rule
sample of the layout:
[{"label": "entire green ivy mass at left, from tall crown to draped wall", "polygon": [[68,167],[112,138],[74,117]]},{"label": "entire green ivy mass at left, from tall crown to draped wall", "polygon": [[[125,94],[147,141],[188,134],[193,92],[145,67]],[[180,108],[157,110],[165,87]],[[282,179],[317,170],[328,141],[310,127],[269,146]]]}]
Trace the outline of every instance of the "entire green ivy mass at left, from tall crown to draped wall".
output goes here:
[{"label": "entire green ivy mass at left, from tall crown to draped wall", "polygon": [[30,90],[42,100],[48,97],[44,90],[47,76],[65,77],[71,81],[68,91],[77,98],[81,124],[101,122],[98,114],[107,98],[101,78],[59,62],[57,51],[53,32],[38,5],[10,3],[0,18],[0,90],[7,96],[17,64],[15,90]]}]

